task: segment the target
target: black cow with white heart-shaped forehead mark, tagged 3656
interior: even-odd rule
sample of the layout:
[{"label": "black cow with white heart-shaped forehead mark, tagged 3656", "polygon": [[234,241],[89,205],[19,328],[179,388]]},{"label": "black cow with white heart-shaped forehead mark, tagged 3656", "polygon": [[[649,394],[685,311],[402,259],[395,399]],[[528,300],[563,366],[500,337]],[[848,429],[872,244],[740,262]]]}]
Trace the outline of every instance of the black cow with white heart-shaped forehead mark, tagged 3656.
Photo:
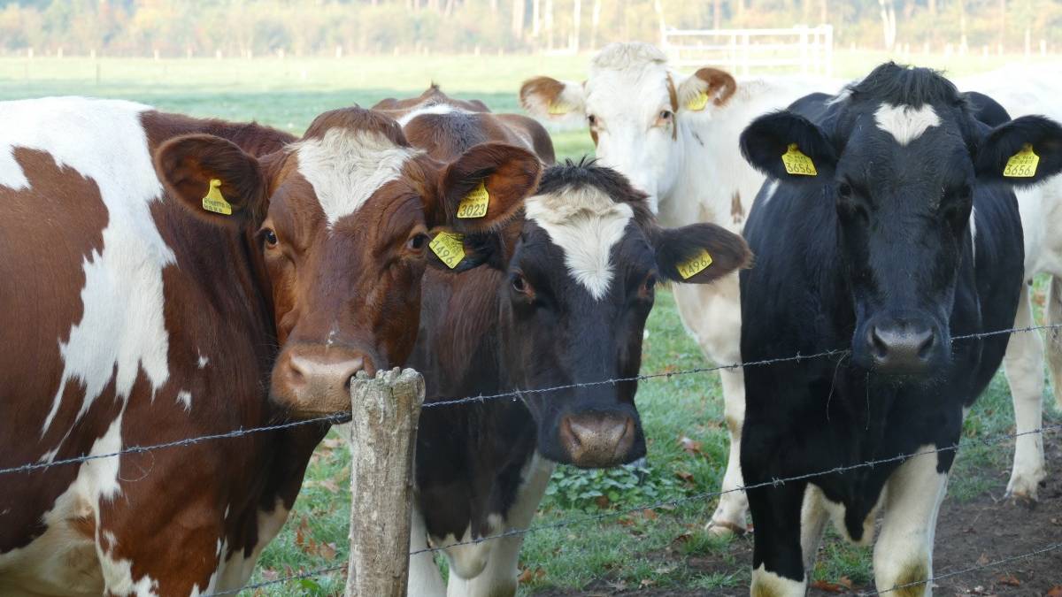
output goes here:
[{"label": "black cow with white heart-shaped forehead mark, tagged 3656", "polygon": [[[1034,175],[1005,176],[1026,143]],[[768,483],[749,492],[752,594],[804,595],[826,521],[867,544],[879,510],[877,589],[928,594],[954,451],[770,482],[958,442],[1008,336],[952,339],[1014,321],[1011,187],[1062,169],[1062,127],[990,127],[940,74],[890,63],[840,96],[758,118],[741,151],[770,177],[744,228],[756,267],[741,273],[742,359],[851,348],[746,374],[741,467],[748,484]],[[784,155],[816,173],[790,174]]]}]

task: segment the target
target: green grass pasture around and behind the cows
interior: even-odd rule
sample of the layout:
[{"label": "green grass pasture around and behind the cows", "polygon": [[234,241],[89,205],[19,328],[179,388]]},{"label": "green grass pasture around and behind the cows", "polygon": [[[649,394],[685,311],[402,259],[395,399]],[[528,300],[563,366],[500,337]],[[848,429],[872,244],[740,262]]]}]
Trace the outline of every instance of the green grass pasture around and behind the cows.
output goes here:
[{"label": "green grass pasture around and behind the cows", "polygon": [[[837,74],[856,76],[887,56],[839,52]],[[0,58],[0,100],[86,95],[142,101],[194,116],[258,120],[303,131],[321,112],[386,97],[418,93],[430,81],[495,110],[517,110],[519,82],[534,74],[581,80],[588,56],[362,56],[329,58]],[[996,68],[1006,58],[913,56],[956,75]],[[593,151],[584,131],[554,132],[560,156]],[[1043,292],[1038,285],[1037,297]],[[646,373],[704,366],[686,337],[670,292],[658,293],[645,346]],[[1054,398],[1045,424],[1062,423]],[[649,438],[643,468],[583,472],[559,467],[533,525],[595,517],[529,533],[521,553],[521,594],[704,595],[747,594],[752,540],[719,540],[701,526],[714,502],[689,496],[717,491],[726,457],[722,400],[715,374],[683,375],[641,383],[638,405]],[[977,439],[1013,432],[1006,381],[997,375],[966,421],[964,441],[940,517],[937,574],[1024,553],[1062,536],[1062,462],[1058,433],[1048,434],[1052,473],[1032,510],[1003,500],[1013,443],[979,445]],[[302,495],[280,536],[266,550],[253,582],[342,563],[346,557],[349,468],[343,441],[329,436],[314,455]],[[623,513],[644,504],[687,499]],[[606,515],[604,517],[600,517]],[[820,590],[872,587],[870,549],[830,538],[819,556]],[[444,563],[441,562],[445,566]],[[949,578],[943,594],[1044,594],[1062,584],[1062,552]],[[341,575],[304,579],[256,595],[333,595]]]}]

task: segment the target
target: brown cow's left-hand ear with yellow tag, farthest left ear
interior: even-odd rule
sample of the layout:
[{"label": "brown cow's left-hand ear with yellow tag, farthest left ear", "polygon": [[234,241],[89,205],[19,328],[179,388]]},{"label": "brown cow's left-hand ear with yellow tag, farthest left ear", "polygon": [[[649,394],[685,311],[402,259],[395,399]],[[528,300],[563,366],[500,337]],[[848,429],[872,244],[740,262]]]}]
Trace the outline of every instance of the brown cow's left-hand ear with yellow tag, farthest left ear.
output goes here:
[{"label": "brown cow's left-hand ear with yellow tag, farthest left ear", "polygon": [[155,152],[155,171],[170,195],[216,223],[258,219],[268,187],[258,160],[213,135],[184,135]]}]

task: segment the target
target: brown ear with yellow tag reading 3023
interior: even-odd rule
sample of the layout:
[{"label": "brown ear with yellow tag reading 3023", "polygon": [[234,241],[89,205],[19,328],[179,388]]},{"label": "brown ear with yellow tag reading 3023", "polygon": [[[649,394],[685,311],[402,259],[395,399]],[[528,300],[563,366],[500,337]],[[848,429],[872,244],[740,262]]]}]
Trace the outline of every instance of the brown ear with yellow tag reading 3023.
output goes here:
[{"label": "brown ear with yellow tag reading 3023", "polygon": [[506,143],[480,143],[446,167],[438,204],[429,209],[434,226],[457,233],[490,231],[513,217],[534,192],[542,163],[531,152]]}]

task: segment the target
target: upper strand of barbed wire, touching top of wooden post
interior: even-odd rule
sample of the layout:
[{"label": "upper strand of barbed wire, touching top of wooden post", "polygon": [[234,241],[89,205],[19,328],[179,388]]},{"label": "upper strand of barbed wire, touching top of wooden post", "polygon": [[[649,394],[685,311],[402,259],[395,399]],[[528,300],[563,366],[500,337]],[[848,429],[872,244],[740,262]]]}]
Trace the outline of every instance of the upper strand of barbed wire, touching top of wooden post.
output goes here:
[{"label": "upper strand of barbed wire, touching top of wooden post", "polygon": [[[1062,324],[1031,325],[1031,326],[1027,326],[1027,327],[1012,327],[1012,328],[1008,328],[1008,329],[997,329],[997,330],[993,330],[993,331],[981,331],[981,332],[977,332],[977,334],[966,334],[966,335],[962,335],[962,336],[955,336],[955,337],[952,338],[952,340],[953,341],[955,341],[955,340],[971,340],[971,339],[977,339],[977,338],[988,338],[988,337],[991,337],[991,336],[999,336],[999,335],[1004,335],[1004,334],[1018,334],[1018,332],[1037,331],[1037,330],[1042,330],[1042,329],[1060,329],[1060,328],[1062,328]],[[820,353],[813,353],[813,354],[810,354],[810,355],[801,355],[800,353],[798,353],[796,355],[793,355],[793,356],[790,356],[790,357],[778,357],[778,358],[772,358],[772,359],[763,359],[763,360],[750,361],[750,362],[743,362],[743,363],[730,363],[730,364],[723,364],[723,365],[693,368],[693,369],[686,369],[686,370],[679,370],[679,371],[663,371],[663,372],[658,372],[658,373],[649,373],[649,374],[645,374],[645,375],[635,375],[635,376],[632,376],[632,377],[618,377],[618,378],[612,378],[612,379],[602,379],[600,381],[586,381],[586,382],[579,382],[579,383],[566,383],[566,385],[563,385],[563,386],[554,386],[552,388],[537,388],[537,389],[530,389],[530,390],[514,390],[512,392],[502,392],[502,393],[498,393],[498,394],[487,394],[487,395],[479,395],[479,396],[466,396],[466,397],[463,397],[463,398],[456,398],[456,399],[452,399],[452,400],[438,400],[438,402],[432,402],[432,403],[425,403],[422,408],[434,408],[434,407],[442,407],[442,406],[455,406],[455,405],[468,404],[468,403],[483,403],[483,402],[486,402],[486,400],[499,399],[499,398],[506,398],[506,397],[514,397],[515,398],[515,397],[519,397],[520,395],[524,395],[524,394],[541,394],[541,393],[547,393],[547,392],[556,392],[556,391],[560,391],[560,390],[570,390],[570,389],[573,389],[573,388],[589,388],[589,387],[595,387],[595,386],[605,386],[605,385],[610,385],[610,383],[611,385],[615,385],[615,383],[620,383],[620,382],[624,382],[624,381],[644,381],[644,380],[650,380],[650,379],[658,379],[658,378],[662,378],[662,377],[666,377],[666,378],[670,379],[671,377],[679,376],[679,375],[692,375],[692,374],[700,374],[700,373],[710,373],[710,372],[715,372],[715,371],[729,370],[729,369],[747,369],[747,368],[750,368],[750,366],[764,366],[764,365],[777,364],[777,363],[783,363],[783,362],[800,362],[800,361],[803,361],[803,360],[818,359],[818,358],[824,358],[824,357],[843,356],[843,355],[849,355],[851,353],[852,353],[852,351],[846,349],[846,348],[843,348],[843,349],[822,351]],[[263,432],[263,431],[275,431],[275,430],[279,430],[279,429],[289,429],[289,428],[298,427],[298,426],[302,426],[302,425],[311,425],[311,424],[315,424],[315,423],[325,423],[325,422],[336,423],[338,421],[341,421],[341,420],[349,417],[349,416],[350,416],[349,412],[337,412],[337,413],[328,414],[328,415],[325,415],[325,416],[319,416],[319,417],[307,419],[307,420],[302,420],[302,421],[292,421],[292,422],[288,422],[288,423],[280,423],[280,424],[277,424],[277,425],[267,425],[267,426],[263,426],[263,427],[252,427],[250,429],[235,429],[233,431],[227,431],[227,432],[224,432],[224,433],[213,433],[213,434],[208,434],[208,436],[199,436],[199,437],[195,437],[195,438],[187,438],[187,439],[184,439],[184,440],[176,440],[176,441],[172,441],[172,442],[166,442],[166,443],[154,444],[154,445],[130,446],[127,448],[123,448],[123,449],[120,449],[120,450],[110,451],[110,453],[107,453],[107,454],[84,455],[84,456],[78,456],[78,457],[72,457],[72,458],[66,458],[66,459],[63,459],[63,460],[53,460],[51,462],[25,463],[25,464],[22,464],[22,465],[19,465],[19,466],[10,466],[10,467],[6,467],[6,468],[0,468],[0,475],[8,475],[8,474],[14,474],[14,473],[28,473],[28,472],[32,472],[32,471],[50,468],[52,466],[59,466],[59,465],[64,465],[64,464],[76,464],[76,463],[86,462],[86,461],[89,461],[89,460],[97,460],[97,459],[102,459],[102,458],[115,458],[115,457],[123,456],[123,455],[126,455],[126,454],[143,454],[143,453],[148,453],[148,451],[152,451],[152,450],[157,450],[157,449],[166,449],[166,448],[189,446],[189,445],[193,445],[193,444],[198,444],[200,442],[205,442],[205,441],[210,441],[210,440],[223,440],[223,439],[240,438],[240,437],[243,437],[243,436],[249,436],[251,433],[259,433],[259,432]]]}]

